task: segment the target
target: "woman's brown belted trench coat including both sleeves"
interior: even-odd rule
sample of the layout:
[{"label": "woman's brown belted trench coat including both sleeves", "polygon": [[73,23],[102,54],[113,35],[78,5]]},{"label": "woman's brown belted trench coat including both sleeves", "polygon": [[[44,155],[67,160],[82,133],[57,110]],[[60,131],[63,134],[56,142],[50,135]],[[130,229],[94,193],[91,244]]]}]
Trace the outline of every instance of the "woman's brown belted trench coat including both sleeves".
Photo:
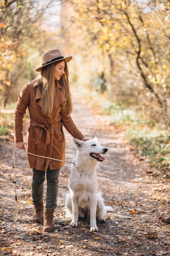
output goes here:
[{"label": "woman's brown belted trench coat including both sleeves", "polygon": [[[30,122],[28,129],[28,152],[47,156],[55,159],[65,159],[65,136],[63,125],[75,138],[82,139],[82,133],[75,126],[71,116],[62,116],[61,109],[65,97],[59,84],[56,85],[54,107],[51,116],[42,115],[40,103],[42,88],[33,80],[26,83],[19,94],[14,113],[14,139],[15,142],[23,141],[22,124],[26,108],[29,109]],[[44,159],[28,154],[30,168],[41,171],[59,169],[64,162]]]}]

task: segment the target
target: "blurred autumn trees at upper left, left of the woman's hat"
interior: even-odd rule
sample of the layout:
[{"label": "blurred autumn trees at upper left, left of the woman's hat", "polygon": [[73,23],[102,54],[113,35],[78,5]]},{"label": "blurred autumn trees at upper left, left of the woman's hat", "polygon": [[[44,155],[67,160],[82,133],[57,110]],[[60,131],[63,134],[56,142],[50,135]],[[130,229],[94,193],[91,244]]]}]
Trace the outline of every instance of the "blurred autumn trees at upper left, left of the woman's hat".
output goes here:
[{"label": "blurred autumn trees at upper left, left of the woman's hat", "polygon": [[23,84],[35,76],[33,70],[37,58],[46,47],[49,36],[42,20],[52,3],[39,0],[0,1],[0,103],[4,107],[16,101]]}]

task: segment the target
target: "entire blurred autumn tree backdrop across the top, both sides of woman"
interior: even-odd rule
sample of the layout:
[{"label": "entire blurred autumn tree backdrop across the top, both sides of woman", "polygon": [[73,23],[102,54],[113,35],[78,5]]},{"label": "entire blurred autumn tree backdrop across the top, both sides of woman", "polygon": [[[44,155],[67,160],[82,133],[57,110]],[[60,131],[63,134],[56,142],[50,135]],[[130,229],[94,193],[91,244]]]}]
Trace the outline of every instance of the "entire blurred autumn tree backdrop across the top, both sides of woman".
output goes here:
[{"label": "entire blurred autumn tree backdrop across the top, both sides of woman", "polygon": [[56,47],[74,57],[71,84],[169,129],[169,0],[0,1],[2,106]]}]

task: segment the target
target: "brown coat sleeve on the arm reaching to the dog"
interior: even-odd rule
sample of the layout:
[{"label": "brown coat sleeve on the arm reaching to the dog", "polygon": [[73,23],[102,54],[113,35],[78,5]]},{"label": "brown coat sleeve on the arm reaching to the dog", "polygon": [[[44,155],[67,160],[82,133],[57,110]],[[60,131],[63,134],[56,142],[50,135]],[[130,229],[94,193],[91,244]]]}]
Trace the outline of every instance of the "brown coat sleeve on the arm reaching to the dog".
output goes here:
[{"label": "brown coat sleeve on the arm reaching to the dog", "polygon": [[78,130],[71,116],[62,117],[62,124],[73,138],[82,139],[84,137],[84,135]]}]

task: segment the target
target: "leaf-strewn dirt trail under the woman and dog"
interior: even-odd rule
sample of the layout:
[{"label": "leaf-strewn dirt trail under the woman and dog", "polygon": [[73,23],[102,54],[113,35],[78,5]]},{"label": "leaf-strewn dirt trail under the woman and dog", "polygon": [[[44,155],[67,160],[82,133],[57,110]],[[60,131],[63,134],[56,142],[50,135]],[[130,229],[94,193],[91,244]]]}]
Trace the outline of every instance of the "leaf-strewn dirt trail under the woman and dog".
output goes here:
[{"label": "leaf-strewn dirt trail under the woman and dog", "polygon": [[[73,95],[75,124],[85,136],[97,136],[108,148],[106,160],[98,165],[98,186],[114,212],[108,213],[105,223],[97,222],[98,232],[91,233],[89,220],[84,219],[78,227],[70,227],[64,204],[71,164],[65,164],[60,173],[55,230],[43,233],[42,224],[31,221],[32,173],[26,153],[15,149],[19,213],[14,223],[13,141],[4,141],[0,148],[0,255],[170,255],[170,225],[159,220],[159,216],[170,216],[169,182],[149,175],[148,164],[137,158],[121,130],[109,126],[106,116],[92,112],[86,101],[78,102]],[[71,135],[65,135],[66,160],[72,161],[76,148]],[[44,197],[45,190],[46,183]]]}]

